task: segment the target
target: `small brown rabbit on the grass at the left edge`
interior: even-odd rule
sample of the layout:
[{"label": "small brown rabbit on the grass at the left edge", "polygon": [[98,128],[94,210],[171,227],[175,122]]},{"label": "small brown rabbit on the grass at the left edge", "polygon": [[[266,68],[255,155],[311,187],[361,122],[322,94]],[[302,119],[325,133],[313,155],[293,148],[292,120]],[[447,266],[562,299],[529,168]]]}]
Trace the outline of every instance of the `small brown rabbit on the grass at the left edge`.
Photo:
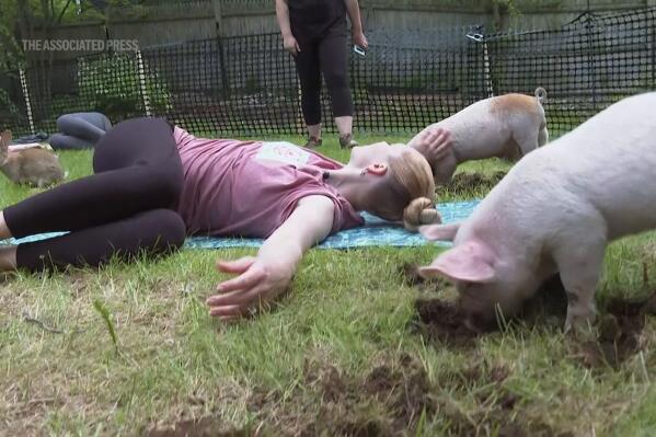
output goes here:
[{"label": "small brown rabbit on the grass at the left edge", "polygon": [[0,171],[11,182],[41,188],[64,180],[64,169],[55,153],[42,148],[9,150],[11,140],[11,131],[0,133]]}]

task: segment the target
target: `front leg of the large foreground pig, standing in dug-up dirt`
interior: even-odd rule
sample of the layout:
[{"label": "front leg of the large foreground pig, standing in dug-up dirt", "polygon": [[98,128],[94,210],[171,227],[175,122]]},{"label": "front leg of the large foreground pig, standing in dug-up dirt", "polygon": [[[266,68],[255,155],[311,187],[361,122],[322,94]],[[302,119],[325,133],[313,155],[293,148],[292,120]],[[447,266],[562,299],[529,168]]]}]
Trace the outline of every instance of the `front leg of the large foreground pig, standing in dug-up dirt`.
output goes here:
[{"label": "front leg of the large foreground pig, standing in dug-up dirt", "polygon": [[567,294],[565,332],[584,327],[594,320],[595,289],[603,267],[606,251],[603,234],[582,241],[579,233],[578,238],[571,237],[571,242],[561,246],[561,250],[554,254]]}]

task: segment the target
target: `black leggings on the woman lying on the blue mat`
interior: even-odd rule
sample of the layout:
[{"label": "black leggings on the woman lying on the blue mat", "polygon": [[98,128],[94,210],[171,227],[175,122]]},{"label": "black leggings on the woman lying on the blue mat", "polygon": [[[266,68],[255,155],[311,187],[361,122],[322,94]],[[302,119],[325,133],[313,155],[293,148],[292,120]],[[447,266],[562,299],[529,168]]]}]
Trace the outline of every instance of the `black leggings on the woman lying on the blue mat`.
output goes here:
[{"label": "black leggings on the woman lying on the blue mat", "polygon": [[19,244],[19,267],[96,266],[182,246],[185,226],[172,208],[184,176],[166,122],[136,118],[114,126],[95,148],[93,171],[4,209],[14,238],[69,231]]}]

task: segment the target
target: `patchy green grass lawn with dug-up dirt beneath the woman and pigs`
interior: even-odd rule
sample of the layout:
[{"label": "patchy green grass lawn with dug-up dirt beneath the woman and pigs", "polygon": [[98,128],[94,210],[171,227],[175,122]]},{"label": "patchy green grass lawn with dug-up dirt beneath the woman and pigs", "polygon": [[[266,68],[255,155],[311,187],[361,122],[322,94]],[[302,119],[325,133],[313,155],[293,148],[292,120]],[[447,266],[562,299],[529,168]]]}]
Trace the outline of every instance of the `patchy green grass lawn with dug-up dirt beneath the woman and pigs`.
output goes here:
[{"label": "patchy green grass lawn with dug-up dirt beneath the woman and pigs", "polygon": [[[71,177],[90,173],[91,153],[60,156]],[[34,192],[2,177],[0,206]],[[215,262],[248,253],[0,281],[0,435],[656,435],[654,320],[617,366],[551,317],[468,343],[422,335],[416,300],[453,296],[405,280],[400,266],[438,253],[424,246],[312,250],[275,311],[223,325],[204,304],[226,278]],[[612,244],[598,301],[647,295],[655,265],[654,233]]]}]

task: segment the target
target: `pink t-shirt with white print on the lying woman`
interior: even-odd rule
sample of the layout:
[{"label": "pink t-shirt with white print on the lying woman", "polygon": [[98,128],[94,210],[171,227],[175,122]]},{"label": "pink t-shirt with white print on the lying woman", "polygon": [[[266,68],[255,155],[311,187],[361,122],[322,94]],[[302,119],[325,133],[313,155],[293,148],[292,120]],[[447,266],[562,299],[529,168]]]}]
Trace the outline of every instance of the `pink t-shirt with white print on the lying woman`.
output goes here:
[{"label": "pink t-shirt with white print on the lying woman", "polygon": [[362,225],[324,170],[342,164],[290,142],[196,138],[173,133],[184,170],[177,211],[191,233],[267,238],[310,195],[335,205],[332,232]]}]

